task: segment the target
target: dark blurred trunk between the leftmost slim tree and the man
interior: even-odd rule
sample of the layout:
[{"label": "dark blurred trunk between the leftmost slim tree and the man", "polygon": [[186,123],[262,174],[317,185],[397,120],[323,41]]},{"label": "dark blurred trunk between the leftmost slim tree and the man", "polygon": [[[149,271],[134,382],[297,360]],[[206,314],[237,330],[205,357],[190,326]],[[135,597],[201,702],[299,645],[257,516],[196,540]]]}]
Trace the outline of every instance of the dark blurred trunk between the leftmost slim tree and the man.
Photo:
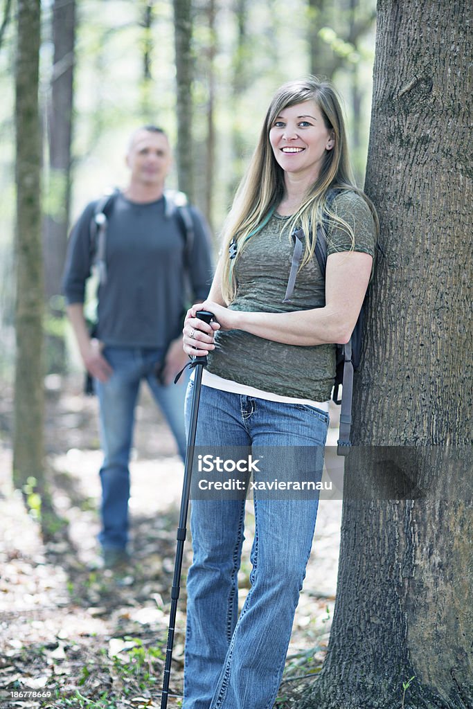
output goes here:
[{"label": "dark blurred trunk between the leftmost slim tree and the man", "polygon": [[44,220],[45,296],[48,305],[48,370],[65,371],[64,311],[61,292],[71,196],[71,139],[74,80],[75,0],[55,0],[52,8],[54,59],[48,106],[48,213]]}]

